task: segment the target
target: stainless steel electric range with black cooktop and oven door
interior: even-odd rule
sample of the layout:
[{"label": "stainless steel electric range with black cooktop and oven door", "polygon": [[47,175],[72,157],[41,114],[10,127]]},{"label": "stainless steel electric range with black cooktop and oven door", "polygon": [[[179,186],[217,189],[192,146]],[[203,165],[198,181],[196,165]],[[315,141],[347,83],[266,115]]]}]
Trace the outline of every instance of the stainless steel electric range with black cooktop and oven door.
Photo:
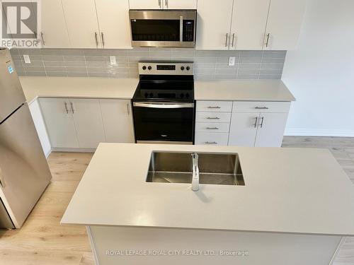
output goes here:
[{"label": "stainless steel electric range with black cooktop and oven door", "polygon": [[139,63],[132,98],[137,143],[193,144],[193,63]]}]

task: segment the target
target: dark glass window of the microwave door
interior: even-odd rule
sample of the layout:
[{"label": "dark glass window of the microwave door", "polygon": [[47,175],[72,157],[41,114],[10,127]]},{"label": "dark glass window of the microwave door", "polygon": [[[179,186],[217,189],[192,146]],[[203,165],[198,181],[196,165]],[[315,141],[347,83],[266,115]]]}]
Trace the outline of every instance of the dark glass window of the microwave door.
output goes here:
[{"label": "dark glass window of the microwave door", "polygon": [[179,42],[180,20],[134,19],[132,40]]}]

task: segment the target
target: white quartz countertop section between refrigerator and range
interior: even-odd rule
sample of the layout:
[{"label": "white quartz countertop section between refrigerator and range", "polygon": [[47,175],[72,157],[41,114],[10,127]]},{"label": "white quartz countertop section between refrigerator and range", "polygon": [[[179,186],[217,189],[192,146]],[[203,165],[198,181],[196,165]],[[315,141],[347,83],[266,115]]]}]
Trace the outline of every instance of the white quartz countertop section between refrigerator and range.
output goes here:
[{"label": "white quartz countertop section between refrigerator and range", "polygon": [[21,76],[27,102],[37,97],[132,99],[139,79]]}]

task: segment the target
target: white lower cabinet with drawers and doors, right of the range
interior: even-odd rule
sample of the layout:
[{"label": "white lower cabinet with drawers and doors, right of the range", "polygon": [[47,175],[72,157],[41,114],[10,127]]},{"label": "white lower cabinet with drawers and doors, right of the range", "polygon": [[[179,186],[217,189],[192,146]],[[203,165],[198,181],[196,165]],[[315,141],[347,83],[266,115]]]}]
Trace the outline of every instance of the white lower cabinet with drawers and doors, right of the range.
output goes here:
[{"label": "white lower cabinet with drawers and doors, right of the range", "polygon": [[197,101],[195,144],[280,147],[290,104]]}]

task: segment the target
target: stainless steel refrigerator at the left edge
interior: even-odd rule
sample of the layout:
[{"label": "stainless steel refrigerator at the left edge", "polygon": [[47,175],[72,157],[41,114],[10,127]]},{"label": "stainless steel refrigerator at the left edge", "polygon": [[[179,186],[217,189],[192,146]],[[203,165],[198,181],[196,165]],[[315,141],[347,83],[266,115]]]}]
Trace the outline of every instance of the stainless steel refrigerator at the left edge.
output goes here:
[{"label": "stainless steel refrigerator at the left edge", "polygon": [[21,228],[51,178],[11,54],[0,48],[0,228]]}]

